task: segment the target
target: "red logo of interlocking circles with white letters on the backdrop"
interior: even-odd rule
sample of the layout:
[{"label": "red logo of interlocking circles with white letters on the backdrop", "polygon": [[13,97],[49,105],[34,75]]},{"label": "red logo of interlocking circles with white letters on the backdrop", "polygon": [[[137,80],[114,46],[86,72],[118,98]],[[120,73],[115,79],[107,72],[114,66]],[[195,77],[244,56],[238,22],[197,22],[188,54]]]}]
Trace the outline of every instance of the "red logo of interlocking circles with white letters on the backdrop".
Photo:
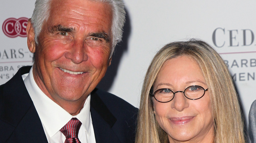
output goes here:
[{"label": "red logo of interlocking circles with white letters on the backdrop", "polygon": [[16,18],[8,18],[4,21],[2,29],[6,36],[14,38],[17,36],[27,37],[26,27],[28,23],[28,18],[21,17],[19,19]]}]

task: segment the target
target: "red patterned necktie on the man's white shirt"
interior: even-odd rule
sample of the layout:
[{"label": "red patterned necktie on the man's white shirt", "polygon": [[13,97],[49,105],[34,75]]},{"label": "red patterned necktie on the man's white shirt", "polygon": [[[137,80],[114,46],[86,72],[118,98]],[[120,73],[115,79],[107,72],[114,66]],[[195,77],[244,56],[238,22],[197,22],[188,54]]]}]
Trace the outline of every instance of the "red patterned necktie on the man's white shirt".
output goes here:
[{"label": "red patterned necktie on the man's white shirt", "polygon": [[77,118],[72,118],[60,132],[66,136],[64,143],[81,143],[78,139],[78,131],[82,123]]}]

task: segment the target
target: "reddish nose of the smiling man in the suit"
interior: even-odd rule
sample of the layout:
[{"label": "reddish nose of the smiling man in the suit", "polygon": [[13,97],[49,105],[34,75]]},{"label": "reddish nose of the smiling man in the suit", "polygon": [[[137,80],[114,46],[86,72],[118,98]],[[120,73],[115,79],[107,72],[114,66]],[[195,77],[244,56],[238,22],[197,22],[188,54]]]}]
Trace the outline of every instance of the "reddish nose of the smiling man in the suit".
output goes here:
[{"label": "reddish nose of the smiling man in the suit", "polygon": [[75,40],[65,57],[71,59],[75,64],[86,61],[88,59],[88,46],[84,40]]}]

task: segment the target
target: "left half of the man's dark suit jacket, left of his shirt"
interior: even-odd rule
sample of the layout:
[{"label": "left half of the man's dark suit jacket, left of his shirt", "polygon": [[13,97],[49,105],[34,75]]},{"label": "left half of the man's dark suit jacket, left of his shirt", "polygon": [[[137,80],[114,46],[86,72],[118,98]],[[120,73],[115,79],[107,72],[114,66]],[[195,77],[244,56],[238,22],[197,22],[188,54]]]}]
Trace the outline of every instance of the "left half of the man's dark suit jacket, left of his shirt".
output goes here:
[{"label": "left half of the man's dark suit jacket, left of his shirt", "polygon": [[30,68],[21,68],[2,88],[1,124],[7,129],[4,133],[7,142],[47,143],[41,120],[21,77]]}]

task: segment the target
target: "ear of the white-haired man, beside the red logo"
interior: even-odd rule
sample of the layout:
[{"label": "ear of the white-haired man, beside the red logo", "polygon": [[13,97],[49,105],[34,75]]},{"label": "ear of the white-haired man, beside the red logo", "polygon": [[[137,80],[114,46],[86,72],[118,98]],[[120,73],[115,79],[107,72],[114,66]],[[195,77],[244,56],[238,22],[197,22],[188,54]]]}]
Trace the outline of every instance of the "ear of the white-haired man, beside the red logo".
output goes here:
[{"label": "ear of the white-haired man, beside the red logo", "polygon": [[31,24],[31,18],[28,20],[26,32],[28,48],[30,52],[35,53],[35,32],[33,25]]}]

